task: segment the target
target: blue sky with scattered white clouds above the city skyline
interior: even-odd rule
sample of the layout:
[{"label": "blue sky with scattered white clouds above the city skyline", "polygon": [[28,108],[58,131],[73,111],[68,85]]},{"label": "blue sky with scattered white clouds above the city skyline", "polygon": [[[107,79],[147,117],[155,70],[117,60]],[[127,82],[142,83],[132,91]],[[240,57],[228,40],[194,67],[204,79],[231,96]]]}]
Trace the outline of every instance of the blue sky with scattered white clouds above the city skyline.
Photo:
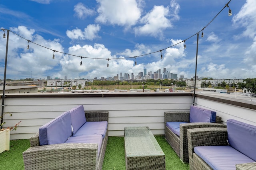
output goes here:
[{"label": "blue sky with scattered white clouds above the city skyline", "polygon": [[[0,28],[15,33],[9,33],[6,78],[106,78],[120,72],[137,75],[144,68],[166,68],[178,77],[193,78],[195,34],[228,1],[1,0]],[[231,0],[229,7],[232,16],[224,8],[204,29],[204,37],[199,34],[199,77],[255,78],[256,1]],[[2,34],[0,79],[6,49]],[[82,66],[77,56],[82,56]]]}]

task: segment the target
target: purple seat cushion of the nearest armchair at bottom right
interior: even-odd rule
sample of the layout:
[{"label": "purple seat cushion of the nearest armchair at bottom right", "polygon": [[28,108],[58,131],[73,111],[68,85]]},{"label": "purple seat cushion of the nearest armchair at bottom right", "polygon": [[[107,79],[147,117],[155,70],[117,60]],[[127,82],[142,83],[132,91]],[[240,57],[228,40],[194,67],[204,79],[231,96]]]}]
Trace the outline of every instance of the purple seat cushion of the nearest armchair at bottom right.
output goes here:
[{"label": "purple seat cushion of the nearest armchair at bottom right", "polygon": [[235,170],[236,164],[255,162],[230,146],[200,146],[194,151],[214,170]]}]

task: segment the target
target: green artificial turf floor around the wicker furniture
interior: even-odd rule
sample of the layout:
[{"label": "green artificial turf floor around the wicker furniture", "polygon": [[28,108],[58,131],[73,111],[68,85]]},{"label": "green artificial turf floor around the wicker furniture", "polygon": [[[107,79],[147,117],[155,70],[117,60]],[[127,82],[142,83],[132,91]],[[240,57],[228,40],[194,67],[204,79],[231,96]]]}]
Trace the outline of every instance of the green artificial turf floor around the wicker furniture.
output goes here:
[{"label": "green artificial turf floor around the wicker furniture", "polygon": [[[172,147],[164,139],[164,135],[155,135],[165,154],[166,170],[189,170],[183,164]],[[11,140],[10,150],[0,154],[0,170],[24,170],[22,152],[30,147],[28,139]],[[102,170],[125,170],[124,137],[108,137],[108,144]]]}]

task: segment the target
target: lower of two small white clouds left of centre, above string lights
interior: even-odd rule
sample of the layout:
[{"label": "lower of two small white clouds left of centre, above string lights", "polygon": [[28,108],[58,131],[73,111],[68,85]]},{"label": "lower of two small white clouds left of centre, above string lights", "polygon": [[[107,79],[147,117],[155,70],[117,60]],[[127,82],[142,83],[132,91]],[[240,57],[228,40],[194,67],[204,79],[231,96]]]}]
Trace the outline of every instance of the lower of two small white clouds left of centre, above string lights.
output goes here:
[{"label": "lower of two small white clouds left of centre, above string lights", "polygon": [[66,35],[70,39],[88,39],[93,40],[95,38],[98,38],[98,31],[100,31],[100,25],[90,24],[87,25],[86,28],[84,28],[84,31],[81,29],[73,29],[72,31],[67,30]]}]

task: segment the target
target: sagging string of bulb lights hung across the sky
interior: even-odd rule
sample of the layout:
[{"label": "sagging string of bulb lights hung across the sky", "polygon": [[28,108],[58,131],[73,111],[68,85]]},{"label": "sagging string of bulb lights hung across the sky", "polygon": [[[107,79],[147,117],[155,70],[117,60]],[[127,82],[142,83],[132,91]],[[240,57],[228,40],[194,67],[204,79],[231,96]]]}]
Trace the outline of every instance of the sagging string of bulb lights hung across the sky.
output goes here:
[{"label": "sagging string of bulb lights hung across the sky", "polygon": [[[228,8],[229,8],[228,4],[229,4],[230,2],[231,2],[231,0],[229,0],[229,2],[224,6],[224,8],[225,8],[225,7],[228,7]],[[224,8],[222,8],[222,10],[224,10]],[[222,10],[220,10],[220,12],[219,12],[204,28],[206,28],[206,27],[222,12]],[[230,8],[229,8],[229,10],[228,10],[228,16],[232,16],[232,11],[231,11]],[[200,30],[200,31],[202,31],[201,37],[204,36],[204,33],[203,33],[204,28]],[[1,28],[1,29],[2,29],[2,28]],[[6,35],[5,35],[5,30],[8,30],[8,29],[2,29],[2,30],[4,31],[3,38],[5,38],[5,36],[6,36]],[[11,31],[11,30],[8,30],[8,31]],[[184,49],[186,49],[186,43],[185,43],[185,41],[188,40],[188,39],[190,39],[190,38],[192,38],[192,37],[194,37],[194,36],[197,35],[200,31],[198,31],[198,32],[195,33],[194,35],[191,35],[190,37],[188,37],[187,39],[185,39],[185,40],[183,40],[183,41],[180,41],[180,42],[178,42],[178,43],[176,43],[176,44],[174,44],[174,45],[171,45],[171,46],[169,46],[169,47],[166,47],[166,48],[164,48],[164,49],[161,49],[161,50],[160,50],[161,59],[162,59],[162,51],[163,51],[163,50],[166,50],[166,49],[168,49],[168,48],[174,47],[174,46],[176,46],[176,45],[178,45],[178,44],[180,44],[180,43],[182,43],[182,42],[184,42]],[[13,31],[11,31],[11,32],[14,33]],[[25,39],[24,37],[18,35],[17,33],[14,33],[14,34],[17,35],[17,36],[19,36],[19,37],[21,37],[21,38],[23,38],[23,39]],[[27,40],[27,39],[25,39],[25,40]],[[27,40],[27,41],[28,41],[28,43],[29,43],[29,42],[34,43],[34,42],[30,41],[30,40]],[[41,46],[41,47],[44,47],[44,46],[42,46],[42,45],[40,45],[40,44],[37,44],[37,43],[34,43],[34,44],[36,44],[36,45],[38,45],[38,46]],[[62,54],[70,55],[70,56],[74,56],[74,57],[81,57],[81,56],[72,55],[72,54],[69,54],[69,53],[64,53],[64,52],[56,51],[56,50],[50,49],[50,48],[48,48],[48,47],[44,47],[44,48],[53,51],[52,59],[54,59],[54,52],[58,52],[58,53],[62,53]],[[29,45],[28,45],[28,48],[27,48],[27,49],[29,49]],[[136,57],[142,57],[142,56],[150,55],[150,54],[157,53],[157,52],[159,52],[159,51],[154,51],[154,52],[151,52],[151,53],[147,53],[147,54],[143,54],[143,55],[139,55],[139,56],[134,56],[134,57],[122,57],[122,58],[120,57],[120,58],[115,58],[115,59],[130,59],[130,58],[134,58],[134,59],[135,59],[135,65],[137,65]],[[82,58],[87,58],[87,59],[104,59],[104,58],[92,58],[92,57],[81,57],[81,59],[82,59]],[[109,61],[110,59],[107,59],[107,60]],[[82,63],[82,61],[80,62],[80,64],[81,64],[81,63]],[[108,65],[109,65],[109,64],[108,64]],[[107,65],[107,67],[108,67],[108,65]]]}]

